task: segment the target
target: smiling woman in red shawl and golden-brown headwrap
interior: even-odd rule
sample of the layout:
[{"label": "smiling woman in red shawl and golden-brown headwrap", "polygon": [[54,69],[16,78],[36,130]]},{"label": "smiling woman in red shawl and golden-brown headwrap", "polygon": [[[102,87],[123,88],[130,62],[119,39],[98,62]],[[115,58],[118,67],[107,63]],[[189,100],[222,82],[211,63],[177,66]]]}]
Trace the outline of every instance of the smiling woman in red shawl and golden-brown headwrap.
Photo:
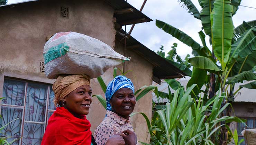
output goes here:
[{"label": "smiling woman in red shawl and golden-brown headwrap", "polygon": [[[60,75],[53,84],[56,111],[48,120],[41,145],[97,145],[88,115],[92,89],[87,75]],[[106,145],[125,145],[124,133],[111,136]]]}]

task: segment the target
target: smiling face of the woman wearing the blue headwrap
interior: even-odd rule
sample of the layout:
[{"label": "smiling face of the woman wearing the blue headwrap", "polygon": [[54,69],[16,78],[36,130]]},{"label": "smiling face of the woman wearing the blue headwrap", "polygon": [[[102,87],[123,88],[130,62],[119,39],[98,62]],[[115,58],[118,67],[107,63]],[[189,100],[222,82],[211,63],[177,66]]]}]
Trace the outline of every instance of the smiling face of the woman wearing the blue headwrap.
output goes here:
[{"label": "smiling face of the woman wearing the blue headwrap", "polygon": [[110,100],[113,112],[129,119],[129,115],[134,110],[136,104],[136,98],[134,93],[129,88],[121,88],[117,90]]}]

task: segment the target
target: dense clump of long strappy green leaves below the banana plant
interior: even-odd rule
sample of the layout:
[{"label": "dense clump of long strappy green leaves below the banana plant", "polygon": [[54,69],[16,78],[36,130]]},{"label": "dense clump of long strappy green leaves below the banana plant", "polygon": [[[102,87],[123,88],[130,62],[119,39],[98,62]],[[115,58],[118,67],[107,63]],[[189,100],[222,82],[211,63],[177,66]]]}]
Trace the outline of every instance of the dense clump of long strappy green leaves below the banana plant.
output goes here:
[{"label": "dense clump of long strappy green leaves below the banana plant", "polygon": [[[173,97],[170,102],[161,105],[161,109],[156,109],[159,105],[154,106],[151,124],[148,117],[142,114],[151,135],[151,145],[214,145],[211,138],[223,126],[220,122],[245,122],[237,117],[221,116],[221,112],[230,105],[221,106],[225,96],[217,96],[208,102],[201,100],[201,97],[192,98],[189,94],[194,87],[195,84],[186,91],[179,87],[173,95],[169,93],[167,98]],[[159,94],[156,96],[161,97]]]}]

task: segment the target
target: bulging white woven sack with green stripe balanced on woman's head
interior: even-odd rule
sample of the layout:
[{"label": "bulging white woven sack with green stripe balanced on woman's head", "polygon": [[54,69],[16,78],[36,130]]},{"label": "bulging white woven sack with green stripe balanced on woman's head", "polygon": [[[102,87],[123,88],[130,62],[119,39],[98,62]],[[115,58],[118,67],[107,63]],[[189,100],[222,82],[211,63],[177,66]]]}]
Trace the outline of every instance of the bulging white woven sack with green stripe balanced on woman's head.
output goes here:
[{"label": "bulging white woven sack with green stripe balanced on woman's head", "polygon": [[49,79],[61,74],[97,78],[108,68],[129,60],[104,42],[76,32],[56,33],[45,43],[43,55]]}]

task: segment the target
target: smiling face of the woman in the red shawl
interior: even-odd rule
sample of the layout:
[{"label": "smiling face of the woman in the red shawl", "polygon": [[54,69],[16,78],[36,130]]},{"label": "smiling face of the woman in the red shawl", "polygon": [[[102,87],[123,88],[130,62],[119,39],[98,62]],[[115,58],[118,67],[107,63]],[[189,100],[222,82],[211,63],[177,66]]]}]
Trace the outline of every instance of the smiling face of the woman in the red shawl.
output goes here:
[{"label": "smiling face of the woman in the red shawl", "polygon": [[89,113],[90,104],[92,103],[92,89],[89,85],[83,85],[70,94],[62,101],[65,102],[64,107],[75,117],[87,115]]}]

